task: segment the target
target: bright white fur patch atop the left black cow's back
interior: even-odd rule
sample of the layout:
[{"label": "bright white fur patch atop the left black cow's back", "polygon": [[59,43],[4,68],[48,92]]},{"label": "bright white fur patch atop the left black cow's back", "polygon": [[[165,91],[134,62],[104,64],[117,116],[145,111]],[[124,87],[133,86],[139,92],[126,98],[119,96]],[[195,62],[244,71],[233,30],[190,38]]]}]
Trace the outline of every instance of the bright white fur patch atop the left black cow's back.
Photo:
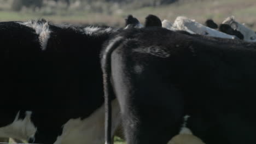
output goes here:
[{"label": "bright white fur patch atop the left black cow's back", "polygon": [[41,49],[44,51],[46,49],[48,39],[50,38],[50,29],[48,22],[39,22],[39,21],[28,21],[28,22],[19,22],[20,25],[31,27],[36,31],[36,34],[39,35],[39,43]]}]

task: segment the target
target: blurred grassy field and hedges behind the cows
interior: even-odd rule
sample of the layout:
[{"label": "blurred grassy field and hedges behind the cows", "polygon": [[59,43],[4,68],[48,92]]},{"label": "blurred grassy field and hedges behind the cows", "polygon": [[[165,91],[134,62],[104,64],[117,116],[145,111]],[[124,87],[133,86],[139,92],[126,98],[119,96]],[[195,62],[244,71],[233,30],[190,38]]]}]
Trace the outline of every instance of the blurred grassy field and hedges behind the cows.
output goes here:
[{"label": "blurred grassy field and hedges behind the cows", "polygon": [[204,23],[221,23],[234,15],[236,20],[256,29],[255,0],[0,0],[0,21],[27,21],[45,18],[55,23],[124,26],[132,14],[142,23],[148,14],[173,22],[187,16]]}]

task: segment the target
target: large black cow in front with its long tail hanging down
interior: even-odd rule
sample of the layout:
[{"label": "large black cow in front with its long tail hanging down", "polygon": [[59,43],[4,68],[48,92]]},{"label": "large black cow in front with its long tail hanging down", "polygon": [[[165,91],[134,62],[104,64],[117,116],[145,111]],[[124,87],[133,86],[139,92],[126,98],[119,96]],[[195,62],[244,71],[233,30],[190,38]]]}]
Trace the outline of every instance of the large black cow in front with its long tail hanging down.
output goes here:
[{"label": "large black cow in front with its long tail hanging down", "polygon": [[[102,50],[106,143],[113,95],[127,144],[167,143],[187,127],[207,144],[256,141],[256,43],[131,28]],[[157,137],[157,138],[156,138]]]}]

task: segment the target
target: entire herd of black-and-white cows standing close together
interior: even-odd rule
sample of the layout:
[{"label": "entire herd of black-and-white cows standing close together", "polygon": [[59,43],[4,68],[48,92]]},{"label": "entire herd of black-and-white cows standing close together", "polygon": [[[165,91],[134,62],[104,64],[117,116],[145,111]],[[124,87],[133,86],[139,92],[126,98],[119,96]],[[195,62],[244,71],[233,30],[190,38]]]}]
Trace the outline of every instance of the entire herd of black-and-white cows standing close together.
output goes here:
[{"label": "entire herd of black-and-white cows standing close together", "polygon": [[219,26],[184,16],[171,23],[148,15],[144,26],[132,15],[125,21],[125,28],[0,22],[0,137],[256,141],[254,31],[234,16]]}]

